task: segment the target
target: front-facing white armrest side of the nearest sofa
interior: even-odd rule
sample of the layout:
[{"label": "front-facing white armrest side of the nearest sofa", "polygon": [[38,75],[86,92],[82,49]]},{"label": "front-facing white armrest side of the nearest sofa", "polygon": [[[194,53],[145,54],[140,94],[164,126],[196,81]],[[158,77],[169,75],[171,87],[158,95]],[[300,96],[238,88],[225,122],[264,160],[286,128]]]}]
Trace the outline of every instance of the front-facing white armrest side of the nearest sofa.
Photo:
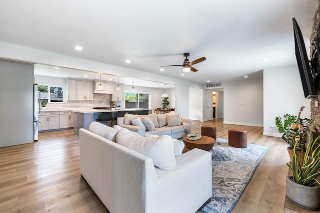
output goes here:
[{"label": "front-facing white armrest side of the nearest sofa", "polygon": [[194,213],[212,196],[211,154],[192,149],[175,159],[174,170],[155,168],[157,181],[146,188],[150,212]]}]

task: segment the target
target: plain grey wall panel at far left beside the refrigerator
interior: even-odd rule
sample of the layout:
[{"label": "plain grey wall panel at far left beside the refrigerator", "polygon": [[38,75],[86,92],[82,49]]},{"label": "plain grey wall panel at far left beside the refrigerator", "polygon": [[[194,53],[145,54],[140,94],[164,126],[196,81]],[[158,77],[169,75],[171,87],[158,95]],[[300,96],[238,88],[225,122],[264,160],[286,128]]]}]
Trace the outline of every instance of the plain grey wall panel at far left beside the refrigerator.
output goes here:
[{"label": "plain grey wall panel at far left beside the refrigerator", "polygon": [[33,64],[0,60],[0,147],[33,142]]}]

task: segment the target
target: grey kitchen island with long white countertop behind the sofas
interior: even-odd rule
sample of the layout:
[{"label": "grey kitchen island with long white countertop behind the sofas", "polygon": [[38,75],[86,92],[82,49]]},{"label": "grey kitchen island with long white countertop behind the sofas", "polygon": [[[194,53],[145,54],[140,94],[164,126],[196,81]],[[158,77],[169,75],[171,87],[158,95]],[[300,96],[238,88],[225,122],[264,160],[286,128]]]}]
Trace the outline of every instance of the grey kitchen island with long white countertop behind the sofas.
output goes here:
[{"label": "grey kitchen island with long white countertop behind the sofas", "polygon": [[[73,110],[73,132],[75,135],[79,135],[79,129],[84,128],[89,130],[89,126],[91,122],[96,121],[102,112],[112,112],[112,117],[115,117],[116,112],[125,111],[126,113],[132,114],[150,114],[152,113],[152,109],[128,109],[121,108],[116,110],[109,109],[89,109],[89,110]],[[147,111],[147,112],[146,112]]]}]

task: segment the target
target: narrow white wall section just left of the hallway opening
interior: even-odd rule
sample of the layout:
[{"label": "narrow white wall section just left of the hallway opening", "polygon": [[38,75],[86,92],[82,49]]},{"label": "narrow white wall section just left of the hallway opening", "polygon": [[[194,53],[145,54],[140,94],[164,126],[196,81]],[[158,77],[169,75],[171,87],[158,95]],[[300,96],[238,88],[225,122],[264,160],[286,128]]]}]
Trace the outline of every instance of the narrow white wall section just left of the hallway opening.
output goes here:
[{"label": "narrow white wall section just left of the hallway opening", "polygon": [[[189,88],[189,116],[192,120],[202,120],[202,104],[206,100],[202,100],[202,89]],[[205,105],[205,104],[204,104]]]}]

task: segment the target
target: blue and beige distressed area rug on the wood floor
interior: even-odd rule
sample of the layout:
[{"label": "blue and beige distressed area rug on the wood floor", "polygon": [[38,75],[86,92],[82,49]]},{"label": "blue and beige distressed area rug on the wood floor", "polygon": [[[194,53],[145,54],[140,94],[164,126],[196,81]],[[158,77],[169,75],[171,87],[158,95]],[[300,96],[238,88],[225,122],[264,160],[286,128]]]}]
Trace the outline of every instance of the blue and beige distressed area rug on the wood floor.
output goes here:
[{"label": "blue and beige distressed area rug on the wood floor", "polygon": [[212,160],[212,198],[201,213],[230,213],[266,154],[268,147],[234,148],[217,138]]}]

